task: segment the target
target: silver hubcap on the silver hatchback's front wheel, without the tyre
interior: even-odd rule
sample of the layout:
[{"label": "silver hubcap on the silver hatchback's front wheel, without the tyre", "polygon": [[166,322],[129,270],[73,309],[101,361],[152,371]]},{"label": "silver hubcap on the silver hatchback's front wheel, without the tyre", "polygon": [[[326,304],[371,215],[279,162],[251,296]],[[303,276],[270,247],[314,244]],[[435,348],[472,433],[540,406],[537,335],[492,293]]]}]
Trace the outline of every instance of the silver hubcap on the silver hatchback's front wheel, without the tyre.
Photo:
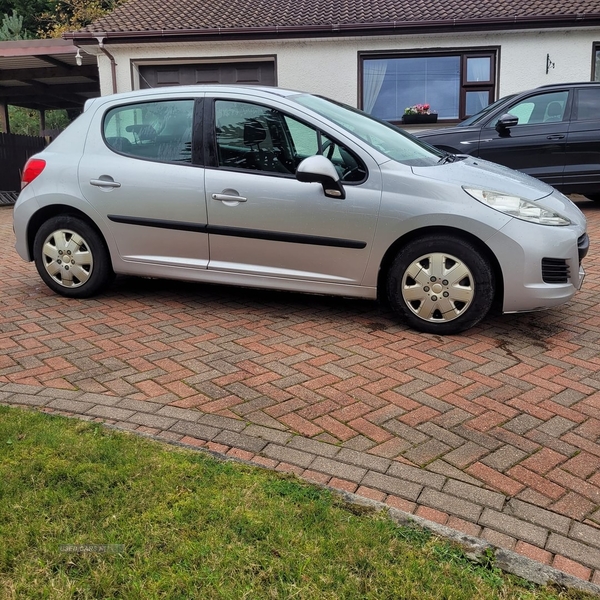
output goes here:
[{"label": "silver hubcap on the silver hatchback's front wheel, without the tyre", "polygon": [[458,258],[431,252],[414,260],[402,275],[402,298],[420,319],[442,323],[457,319],[475,298],[475,280]]}]

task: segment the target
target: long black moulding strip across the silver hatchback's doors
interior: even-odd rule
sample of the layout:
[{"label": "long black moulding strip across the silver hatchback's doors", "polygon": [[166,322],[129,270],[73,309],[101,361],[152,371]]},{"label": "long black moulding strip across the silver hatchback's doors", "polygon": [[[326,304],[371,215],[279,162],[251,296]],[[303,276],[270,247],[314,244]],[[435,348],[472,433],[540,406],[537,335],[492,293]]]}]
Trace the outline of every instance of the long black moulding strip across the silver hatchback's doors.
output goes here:
[{"label": "long black moulding strip across the silver hatchback's doors", "polygon": [[319,235],[303,235],[301,233],[283,233],[278,231],[265,231],[263,229],[245,229],[241,227],[222,227],[219,225],[147,219],[144,217],[124,217],[121,215],[108,215],[108,218],[115,223],[125,223],[127,225],[158,227],[160,229],[173,229],[175,231],[196,231],[198,233],[212,233],[213,235],[270,240],[273,242],[288,242],[291,244],[329,246],[332,248],[354,248],[357,250],[362,250],[367,246],[367,242],[358,240],[346,240]]}]

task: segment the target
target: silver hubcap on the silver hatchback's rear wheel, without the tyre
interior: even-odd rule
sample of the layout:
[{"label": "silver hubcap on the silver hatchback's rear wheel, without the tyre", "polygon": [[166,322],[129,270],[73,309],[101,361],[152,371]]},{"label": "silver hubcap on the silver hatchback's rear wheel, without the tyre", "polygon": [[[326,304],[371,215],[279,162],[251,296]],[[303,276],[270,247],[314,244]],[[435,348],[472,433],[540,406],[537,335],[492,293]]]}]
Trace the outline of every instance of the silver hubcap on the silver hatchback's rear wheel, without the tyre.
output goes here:
[{"label": "silver hubcap on the silver hatchback's rear wheel, without the tyre", "polygon": [[92,275],[94,257],[88,243],[70,229],[57,229],[44,241],[42,261],[46,273],[59,285],[77,288]]}]

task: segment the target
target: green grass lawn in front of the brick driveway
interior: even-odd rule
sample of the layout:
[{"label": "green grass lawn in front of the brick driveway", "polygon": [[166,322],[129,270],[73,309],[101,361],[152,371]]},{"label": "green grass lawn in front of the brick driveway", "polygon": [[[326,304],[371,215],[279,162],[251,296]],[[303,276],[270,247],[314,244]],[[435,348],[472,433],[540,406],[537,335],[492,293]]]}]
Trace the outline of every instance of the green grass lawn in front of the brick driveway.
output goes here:
[{"label": "green grass lawn in front of the brick driveway", "polygon": [[557,599],[299,480],[0,406],[0,598]]}]

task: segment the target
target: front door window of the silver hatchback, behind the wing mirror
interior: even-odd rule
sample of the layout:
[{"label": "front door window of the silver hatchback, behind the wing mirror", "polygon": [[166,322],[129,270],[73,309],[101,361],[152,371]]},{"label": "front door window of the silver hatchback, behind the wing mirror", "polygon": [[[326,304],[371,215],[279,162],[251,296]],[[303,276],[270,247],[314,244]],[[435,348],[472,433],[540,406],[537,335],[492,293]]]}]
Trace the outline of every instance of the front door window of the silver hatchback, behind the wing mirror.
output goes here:
[{"label": "front door window of the silver hatchback, behind the wing mirror", "polygon": [[325,154],[344,181],[362,181],[366,169],[347,148],[278,110],[229,100],[215,102],[219,167],[293,175],[308,156]]}]

